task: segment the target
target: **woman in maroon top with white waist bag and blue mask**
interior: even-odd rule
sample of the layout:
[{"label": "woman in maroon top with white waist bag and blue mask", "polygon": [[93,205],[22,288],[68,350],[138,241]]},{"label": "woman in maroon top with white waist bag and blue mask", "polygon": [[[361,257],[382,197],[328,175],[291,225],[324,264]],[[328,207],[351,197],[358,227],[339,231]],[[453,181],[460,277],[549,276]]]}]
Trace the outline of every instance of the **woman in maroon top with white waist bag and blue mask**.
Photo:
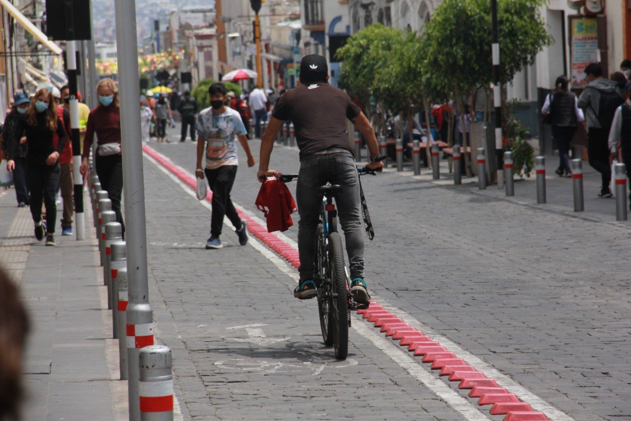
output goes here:
[{"label": "woman in maroon top with white waist bag and blue mask", "polygon": [[[125,225],[122,221],[122,149],[121,149],[121,109],[119,107],[119,93],[114,80],[105,78],[97,85],[98,102],[95,109],[90,111],[83,140],[83,161],[81,174],[88,172],[88,156],[97,133],[97,153],[94,157],[98,181],[107,197],[112,200],[112,210],[116,213],[116,221],[121,223],[122,231]],[[139,140],[140,141],[140,140]]]}]

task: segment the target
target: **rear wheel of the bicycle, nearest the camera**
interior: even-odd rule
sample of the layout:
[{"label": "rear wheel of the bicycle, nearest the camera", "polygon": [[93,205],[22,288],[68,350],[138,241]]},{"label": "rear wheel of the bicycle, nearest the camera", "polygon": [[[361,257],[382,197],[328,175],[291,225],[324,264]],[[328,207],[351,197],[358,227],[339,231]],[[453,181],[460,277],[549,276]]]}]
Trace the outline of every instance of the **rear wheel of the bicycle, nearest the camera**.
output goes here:
[{"label": "rear wheel of the bicycle, nearest the camera", "polygon": [[348,355],[348,289],[344,271],[344,249],[339,233],[327,237],[328,267],[331,279],[331,327],[335,357],[345,360]]}]

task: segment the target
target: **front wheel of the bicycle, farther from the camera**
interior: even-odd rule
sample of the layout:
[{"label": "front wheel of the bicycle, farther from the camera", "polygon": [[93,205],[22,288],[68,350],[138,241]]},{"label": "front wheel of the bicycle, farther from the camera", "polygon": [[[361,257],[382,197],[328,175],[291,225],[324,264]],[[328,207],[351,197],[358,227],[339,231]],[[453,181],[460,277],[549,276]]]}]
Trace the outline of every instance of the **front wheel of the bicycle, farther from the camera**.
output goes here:
[{"label": "front wheel of the bicycle, farther from the camera", "polygon": [[331,276],[327,262],[327,248],[322,241],[322,224],[317,226],[315,232],[315,283],[317,284],[317,310],[320,315],[320,329],[324,345],[333,345],[333,333],[331,332]]}]

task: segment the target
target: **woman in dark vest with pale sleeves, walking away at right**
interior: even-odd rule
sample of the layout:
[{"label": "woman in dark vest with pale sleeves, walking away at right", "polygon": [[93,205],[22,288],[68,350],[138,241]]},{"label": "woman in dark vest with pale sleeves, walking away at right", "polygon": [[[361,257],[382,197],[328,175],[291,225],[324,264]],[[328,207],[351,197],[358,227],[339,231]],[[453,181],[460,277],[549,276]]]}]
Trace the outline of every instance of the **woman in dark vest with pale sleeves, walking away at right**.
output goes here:
[{"label": "woman in dark vest with pale sleeves, walking away at right", "polygon": [[570,144],[574,133],[581,123],[583,130],[587,130],[585,116],[579,108],[576,95],[568,90],[569,82],[565,76],[558,76],[555,89],[548,94],[541,108],[541,113],[550,113],[552,116],[552,137],[558,145],[558,168],[555,173],[560,177],[571,177],[570,169]]}]

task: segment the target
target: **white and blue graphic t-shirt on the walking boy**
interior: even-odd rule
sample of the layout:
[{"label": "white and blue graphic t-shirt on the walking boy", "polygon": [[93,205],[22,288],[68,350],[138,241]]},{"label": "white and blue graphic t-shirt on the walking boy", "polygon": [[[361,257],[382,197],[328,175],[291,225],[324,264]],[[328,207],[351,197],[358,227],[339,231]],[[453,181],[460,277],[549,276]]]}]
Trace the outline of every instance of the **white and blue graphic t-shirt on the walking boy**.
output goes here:
[{"label": "white and blue graphic t-shirt on the walking boy", "polygon": [[198,135],[206,140],[206,168],[239,165],[237,136],[245,135],[245,126],[238,111],[227,107],[221,114],[206,108],[199,113]]}]

